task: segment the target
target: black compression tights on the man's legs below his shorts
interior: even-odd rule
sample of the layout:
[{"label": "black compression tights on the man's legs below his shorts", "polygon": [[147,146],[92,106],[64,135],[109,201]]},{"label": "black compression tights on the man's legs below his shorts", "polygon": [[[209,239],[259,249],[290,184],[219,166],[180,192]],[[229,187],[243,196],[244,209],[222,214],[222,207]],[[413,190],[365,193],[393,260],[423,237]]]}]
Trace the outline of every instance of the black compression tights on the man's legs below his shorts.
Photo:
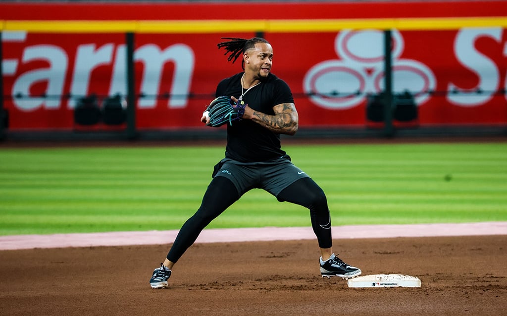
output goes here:
[{"label": "black compression tights on the man's legs below his shorts", "polygon": [[[227,194],[224,194],[224,192],[227,192]],[[331,222],[328,202],[322,189],[311,178],[297,180],[282,190],[277,198],[281,202],[287,201],[308,208],[313,232],[317,237],[319,247],[331,248]],[[179,230],[167,254],[167,259],[176,263],[197,240],[201,231],[238,199],[239,195],[236,187],[229,179],[222,176],[214,177],[204,193],[201,206]]]}]

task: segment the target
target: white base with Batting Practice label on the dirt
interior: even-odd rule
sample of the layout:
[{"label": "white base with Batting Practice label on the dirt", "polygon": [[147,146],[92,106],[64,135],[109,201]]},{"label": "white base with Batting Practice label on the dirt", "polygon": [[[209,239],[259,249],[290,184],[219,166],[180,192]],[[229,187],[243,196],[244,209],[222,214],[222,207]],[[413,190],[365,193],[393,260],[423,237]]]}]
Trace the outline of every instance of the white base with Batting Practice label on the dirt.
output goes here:
[{"label": "white base with Batting Practice label on the dirt", "polygon": [[368,275],[349,279],[349,288],[420,288],[421,280],[407,275]]}]

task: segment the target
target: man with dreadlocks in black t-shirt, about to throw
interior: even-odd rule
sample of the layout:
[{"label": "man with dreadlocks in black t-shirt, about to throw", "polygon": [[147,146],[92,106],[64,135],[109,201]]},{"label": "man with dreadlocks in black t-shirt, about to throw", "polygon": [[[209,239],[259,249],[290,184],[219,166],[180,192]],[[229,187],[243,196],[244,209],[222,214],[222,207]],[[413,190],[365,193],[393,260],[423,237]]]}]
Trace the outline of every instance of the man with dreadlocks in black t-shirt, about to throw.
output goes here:
[{"label": "man with dreadlocks in black t-shirt, about to throw", "polygon": [[[333,253],[331,217],[322,189],[296,167],[281,149],[280,134],[294,135],[298,112],[291,89],[271,73],[273,48],[264,38],[229,38],[218,44],[233,63],[240,56],[244,71],[223,79],[215,96],[227,96],[236,107],[243,102],[238,120],[227,124],[225,158],[214,167],[201,206],[178,232],[164,262],[150,280],[152,288],[165,288],[171,269],[196,241],[201,231],[247,191],[259,188],[278,201],[295,203],[310,210],[313,232],[320,248],[322,277],[354,278],[361,270]],[[238,102],[239,101],[239,102]],[[209,124],[204,113],[203,123]]]}]

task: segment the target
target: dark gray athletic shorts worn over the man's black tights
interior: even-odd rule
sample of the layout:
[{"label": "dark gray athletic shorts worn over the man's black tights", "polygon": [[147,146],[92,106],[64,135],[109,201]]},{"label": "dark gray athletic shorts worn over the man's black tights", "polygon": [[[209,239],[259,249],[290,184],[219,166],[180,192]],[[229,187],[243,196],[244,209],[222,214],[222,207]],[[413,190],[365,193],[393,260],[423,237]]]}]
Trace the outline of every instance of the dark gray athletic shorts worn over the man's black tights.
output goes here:
[{"label": "dark gray athletic shorts worn over the man's black tights", "polygon": [[229,158],[216,164],[213,177],[232,181],[239,196],[251,189],[263,189],[275,197],[301,178],[309,177],[285,156],[266,162],[239,162]]}]

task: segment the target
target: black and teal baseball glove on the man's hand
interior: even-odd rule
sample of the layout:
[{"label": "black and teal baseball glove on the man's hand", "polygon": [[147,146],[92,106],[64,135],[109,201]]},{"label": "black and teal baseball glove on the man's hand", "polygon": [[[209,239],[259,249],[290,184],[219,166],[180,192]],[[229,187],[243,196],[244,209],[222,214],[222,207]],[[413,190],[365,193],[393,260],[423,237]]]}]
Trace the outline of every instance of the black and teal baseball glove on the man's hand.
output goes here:
[{"label": "black and teal baseball glove on the man's hand", "polygon": [[209,115],[207,125],[213,127],[219,127],[226,123],[232,125],[232,122],[241,120],[246,106],[244,101],[234,103],[229,97],[218,97],[211,101],[206,108]]}]

